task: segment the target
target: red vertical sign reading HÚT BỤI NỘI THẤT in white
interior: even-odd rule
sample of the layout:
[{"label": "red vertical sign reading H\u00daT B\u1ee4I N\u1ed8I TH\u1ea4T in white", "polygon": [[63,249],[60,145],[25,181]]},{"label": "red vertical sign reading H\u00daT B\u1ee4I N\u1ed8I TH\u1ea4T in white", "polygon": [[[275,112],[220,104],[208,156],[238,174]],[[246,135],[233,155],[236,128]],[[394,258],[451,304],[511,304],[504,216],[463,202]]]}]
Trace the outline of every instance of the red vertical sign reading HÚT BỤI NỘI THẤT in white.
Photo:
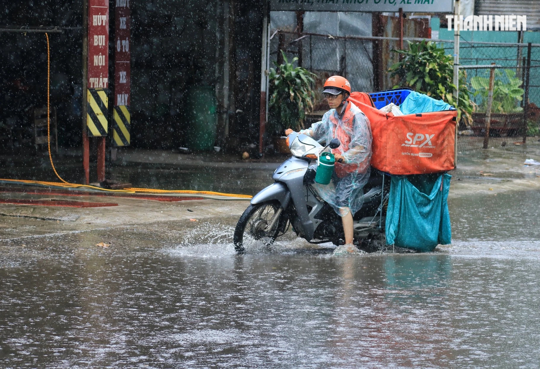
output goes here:
[{"label": "red vertical sign reading H\u00daT B\u1ee4I N\u1ed8I TH\u1ea4T in white", "polygon": [[109,0],[88,1],[88,88],[109,87]]}]

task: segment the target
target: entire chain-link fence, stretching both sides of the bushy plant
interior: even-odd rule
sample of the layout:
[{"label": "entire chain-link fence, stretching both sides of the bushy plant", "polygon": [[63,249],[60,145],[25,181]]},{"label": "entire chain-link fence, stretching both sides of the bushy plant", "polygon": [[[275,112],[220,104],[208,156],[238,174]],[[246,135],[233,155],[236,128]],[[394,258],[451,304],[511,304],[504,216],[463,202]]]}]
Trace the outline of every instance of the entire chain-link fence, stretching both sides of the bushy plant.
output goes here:
[{"label": "entire chain-link fence, stretching both sides of the bushy plant", "polygon": [[[407,49],[404,38],[403,48]],[[414,40],[414,39],[413,39]],[[420,40],[420,39],[418,39]],[[437,41],[447,54],[454,53],[454,42]],[[276,31],[270,43],[271,61],[289,62],[298,57],[298,65],[318,76],[316,91],[333,74],[346,77],[353,91],[381,91],[399,84],[390,78],[388,68],[398,61],[392,50],[400,48],[395,37],[338,37]],[[458,153],[477,155],[484,146],[489,94],[490,68],[495,64],[494,90],[488,146],[521,144],[527,136],[540,135],[540,47],[526,43],[460,42],[460,93],[468,93],[474,102],[473,113],[465,114],[458,126]],[[311,120],[327,109],[318,95]],[[309,118],[309,115],[308,115]],[[479,151],[480,150],[480,151]]]}]

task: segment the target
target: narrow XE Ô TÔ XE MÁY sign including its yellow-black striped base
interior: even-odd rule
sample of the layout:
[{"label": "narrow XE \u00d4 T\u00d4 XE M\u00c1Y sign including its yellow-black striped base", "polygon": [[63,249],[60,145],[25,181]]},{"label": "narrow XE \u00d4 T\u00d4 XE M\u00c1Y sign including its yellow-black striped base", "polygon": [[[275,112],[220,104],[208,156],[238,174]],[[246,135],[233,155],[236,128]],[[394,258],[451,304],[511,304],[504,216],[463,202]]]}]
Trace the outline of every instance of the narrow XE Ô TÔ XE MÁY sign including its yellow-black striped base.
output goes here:
[{"label": "narrow XE \u00d4 T\u00d4 XE M\u00c1Y sign including its yellow-black striped base", "polygon": [[130,0],[116,0],[114,8],[114,95],[113,133],[115,146],[130,145],[131,55]]}]

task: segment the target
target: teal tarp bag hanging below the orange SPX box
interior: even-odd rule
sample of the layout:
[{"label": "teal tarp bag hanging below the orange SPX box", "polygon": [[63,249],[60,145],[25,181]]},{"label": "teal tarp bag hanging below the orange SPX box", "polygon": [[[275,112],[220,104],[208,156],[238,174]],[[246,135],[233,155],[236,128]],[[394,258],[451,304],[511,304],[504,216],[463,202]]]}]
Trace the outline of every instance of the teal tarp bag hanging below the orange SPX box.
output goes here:
[{"label": "teal tarp bag hanging below the orange SPX box", "polygon": [[392,176],[386,213],[386,243],[431,251],[451,241],[448,191],[451,175]]}]

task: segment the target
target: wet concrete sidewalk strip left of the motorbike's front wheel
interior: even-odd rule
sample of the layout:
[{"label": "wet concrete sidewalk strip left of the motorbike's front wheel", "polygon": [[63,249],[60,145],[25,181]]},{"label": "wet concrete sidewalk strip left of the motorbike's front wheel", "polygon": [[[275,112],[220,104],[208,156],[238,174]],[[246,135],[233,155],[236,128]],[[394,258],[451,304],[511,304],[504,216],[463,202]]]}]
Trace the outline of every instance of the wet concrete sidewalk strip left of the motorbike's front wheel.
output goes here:
[{"label": "wet concrete sidewalk strip left of the motorbike's front wheel", "polygon": [[[65,200],[65,196],[0,193],[0,198]],[[72,199],[72,198],[70,198]],[[103,201],[103,197],[80,196],[76,201]],[[100,208],[64,208],[0,203],[1,240],[25,240],[42,236],[80,234],[91,230],[143,227],[160,231],[165,225],[182,230],[204,222],[233,224],[249,201],[154,200],[110,197],[107,202],[118,206]],[[193,221],[191,221],[193,220]],[[24,243],[24,242],[23,242]]]}]

